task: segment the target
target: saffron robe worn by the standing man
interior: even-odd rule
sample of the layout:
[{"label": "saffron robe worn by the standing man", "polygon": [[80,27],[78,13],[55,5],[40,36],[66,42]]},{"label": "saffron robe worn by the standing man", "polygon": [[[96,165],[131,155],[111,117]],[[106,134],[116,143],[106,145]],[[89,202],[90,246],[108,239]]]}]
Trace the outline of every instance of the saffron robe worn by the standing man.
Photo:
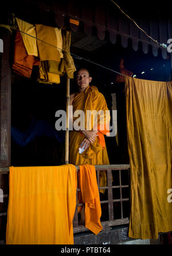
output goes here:
[{"label": "saffron robe worn by the standing man", "polygon": [[[96,86],[88,86],[84,92],[77,94],[73,99],[73,112],[77,110],[84,111],[85,129],[92,130],[97,125],[97,138],[94,144],[91,144],[83,153],[79,153],[79,146],[84,140],[84,135],[79,131],[71,131],[69,135],[69,163],[74,165],[91,164],[105,165],[110,164],[107,149],[105,146],[104,134],[109,135],[110,114],[104,96],[98,91]],[[103,111],[104,116],[99,116],[97,120],[87,118],[87,110]],[[107,111],[107,112],[105,112]],[[96,115],[95,115],[96,117]],[[73,118],[75,123],[77,118]],[[73,124],[74,124],[73,123]],[[106,186],[107,177],[105,171],[100,172],[100,186]],[[104,192],[103,190],[100,190]]]}]

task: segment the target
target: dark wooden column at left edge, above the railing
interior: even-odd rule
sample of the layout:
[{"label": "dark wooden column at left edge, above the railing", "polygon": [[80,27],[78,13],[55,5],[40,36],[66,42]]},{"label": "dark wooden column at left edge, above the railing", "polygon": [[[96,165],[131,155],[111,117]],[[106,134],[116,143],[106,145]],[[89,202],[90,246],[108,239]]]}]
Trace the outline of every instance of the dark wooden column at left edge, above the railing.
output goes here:
[{"label": "dark wooden column at left edge, above the railing", "polygon": [[11,162],[11,69],[10,31],[0,27],[3,52],[0,52],[0,167]]}]

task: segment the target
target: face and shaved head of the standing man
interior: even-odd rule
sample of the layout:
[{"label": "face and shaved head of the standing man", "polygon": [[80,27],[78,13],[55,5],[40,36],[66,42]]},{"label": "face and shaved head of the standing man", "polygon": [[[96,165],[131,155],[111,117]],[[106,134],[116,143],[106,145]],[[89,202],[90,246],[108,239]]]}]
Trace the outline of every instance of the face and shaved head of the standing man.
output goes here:
[{"label": "face and shaved head of the standing man", "polygon": [[89,86],[92,77],[89,76],[89,72],[86,69],[80,69],[76,74],[76,83],[79,88],[79,92],[84,92]]}]

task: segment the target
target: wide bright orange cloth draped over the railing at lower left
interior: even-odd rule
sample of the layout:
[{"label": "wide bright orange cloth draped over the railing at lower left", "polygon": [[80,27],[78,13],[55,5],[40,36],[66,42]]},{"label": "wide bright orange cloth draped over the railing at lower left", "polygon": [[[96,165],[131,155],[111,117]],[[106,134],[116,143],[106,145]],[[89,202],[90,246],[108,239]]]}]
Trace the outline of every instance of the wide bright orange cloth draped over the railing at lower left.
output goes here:
[{"label": "wide bright orange cloth draped over the railing at lower left", "polygon": [[7,244],[73,244],[74,165],[10,167]]}]

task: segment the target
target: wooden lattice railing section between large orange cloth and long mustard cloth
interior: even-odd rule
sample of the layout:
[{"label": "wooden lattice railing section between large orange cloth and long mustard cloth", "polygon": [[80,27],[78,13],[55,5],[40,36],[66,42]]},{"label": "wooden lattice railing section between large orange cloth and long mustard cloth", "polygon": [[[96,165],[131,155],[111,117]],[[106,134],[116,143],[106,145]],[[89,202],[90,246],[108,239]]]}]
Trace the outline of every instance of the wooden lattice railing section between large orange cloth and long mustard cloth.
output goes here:
[{"label": "wooden lattice railing section between large orange cloth and long mustard cloth", "polygon": [[[101,224],[103,228],[114,225],[129,223],[130,214],[130,165],[96,165],[97,185],[100,189],[105,189],[105,193],[100,193],[101,203]],[[77,167],[79,171],[79,167]],[[100,187],[100,171],[107,172],[107,186]],[[80,189],[77,189],[77,192]],[[77,194],[77,193],[76,193]],[[80,206],[82,204],[77,204]],[[73,219],[73,232],[83,232],[88,229],[80,224],[79,214],[76,212]]]}]

